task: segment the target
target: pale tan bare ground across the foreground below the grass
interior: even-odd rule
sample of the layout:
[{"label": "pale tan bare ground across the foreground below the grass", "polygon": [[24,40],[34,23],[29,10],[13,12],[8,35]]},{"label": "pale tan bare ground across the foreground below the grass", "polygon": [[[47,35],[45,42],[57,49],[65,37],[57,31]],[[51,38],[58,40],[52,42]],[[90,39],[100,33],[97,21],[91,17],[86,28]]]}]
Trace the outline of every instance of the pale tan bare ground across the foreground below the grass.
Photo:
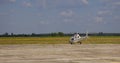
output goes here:
[{"label": "pale tan bare ground across the foreground below the grass", "polygon": [[0,45],[0,63],[120,63],[120,45]]}]

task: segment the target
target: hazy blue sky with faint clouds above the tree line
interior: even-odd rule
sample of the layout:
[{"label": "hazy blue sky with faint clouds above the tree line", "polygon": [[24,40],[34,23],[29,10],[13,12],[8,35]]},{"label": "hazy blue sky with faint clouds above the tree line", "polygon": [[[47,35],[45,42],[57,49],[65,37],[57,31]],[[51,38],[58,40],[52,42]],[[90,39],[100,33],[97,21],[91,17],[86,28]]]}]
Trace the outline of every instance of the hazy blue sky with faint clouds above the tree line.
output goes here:
[{"label": "hazy blue sky with faint clouds above the tree line", "polygon": [[120,33],[120,0],[0,0],[0,34]]}]

